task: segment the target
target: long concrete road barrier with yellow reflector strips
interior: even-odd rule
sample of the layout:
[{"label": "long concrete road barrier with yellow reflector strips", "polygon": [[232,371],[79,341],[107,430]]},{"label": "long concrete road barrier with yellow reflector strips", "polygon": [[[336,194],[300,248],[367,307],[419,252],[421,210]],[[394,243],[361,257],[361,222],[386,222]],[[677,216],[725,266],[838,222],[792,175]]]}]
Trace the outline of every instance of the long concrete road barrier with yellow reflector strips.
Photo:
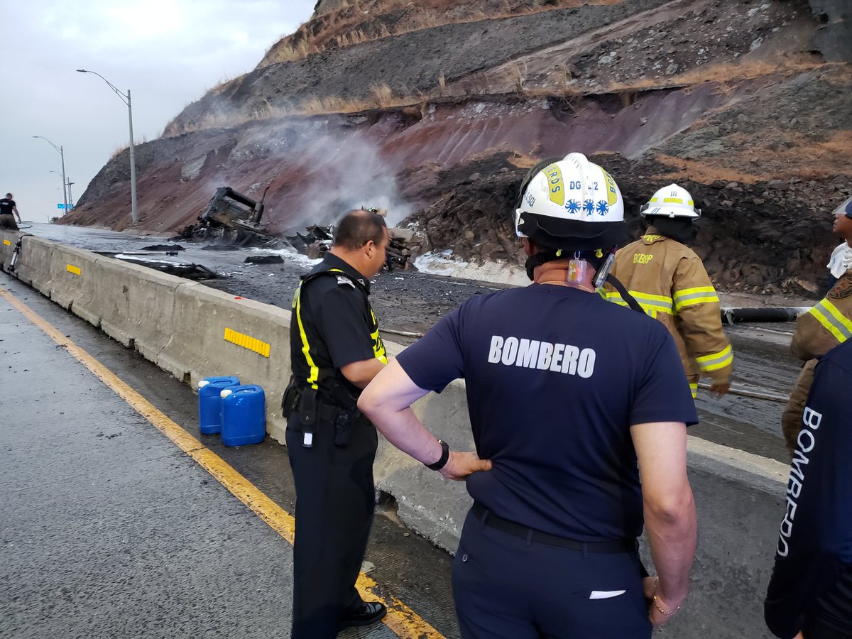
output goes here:
[{"label": "long concrete road barrier with yellow reflector strips", "polygon": [[[10,235],[0,233],[0,241]],[[3,246],[5,261],[9,245]],[[32,236],[24,238],[15,275],[193,388],[218,375],[260,384],[268,434],[284,443],[279,400],[291,374],[288,310]],[[390,356],[403,349],[385,344]],[[454,450],[473,449],[462,381],[428,394],[414,410]],[[454,551],[471,504],[463,483],[444,481],[379,441],[377,488],[393,496],[409,527]],[[762,602],[784,512],[786,467],[690,438],[689,473],[699,511],[693,589],[659,636],[768,637]],[[647,557],[647,545],[642,551]]]}]

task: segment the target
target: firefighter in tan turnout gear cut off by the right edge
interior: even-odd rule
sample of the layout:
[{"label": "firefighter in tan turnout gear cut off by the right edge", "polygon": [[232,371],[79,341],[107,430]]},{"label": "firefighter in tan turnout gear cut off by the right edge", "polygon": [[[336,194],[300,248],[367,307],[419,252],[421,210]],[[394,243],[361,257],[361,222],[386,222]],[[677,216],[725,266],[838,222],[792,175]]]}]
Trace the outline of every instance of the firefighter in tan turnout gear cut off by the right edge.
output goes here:
[{"label": "firefighter in tan turnout gear cut off by the right edge", "polygon": [[[848,199],[834,210],[832,230],[847,245],[852,242],[852,199]],[[852,245],[850,245],[852,246]],[[852,269],[843,273],[820,302],[807,313],[798,316],[796,330],[790,344],[792,354],[805,361],[790,400],[781,415],[781,430],[787,450],[792,455],[796,450],[796,439],[802,427],[804,403],[808,399],[810,383],[814,380],[814,367],[818,358],[832,348],[852,337]]]}]

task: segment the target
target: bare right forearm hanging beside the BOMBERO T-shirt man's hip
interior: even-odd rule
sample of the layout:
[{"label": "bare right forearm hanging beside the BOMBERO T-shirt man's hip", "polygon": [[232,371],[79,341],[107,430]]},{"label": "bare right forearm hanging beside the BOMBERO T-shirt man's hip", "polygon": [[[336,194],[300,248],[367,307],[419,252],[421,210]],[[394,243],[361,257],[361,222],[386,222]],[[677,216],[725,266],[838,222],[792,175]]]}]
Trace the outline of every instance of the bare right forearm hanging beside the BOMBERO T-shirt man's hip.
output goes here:
[{"label": "bare right forearm hanging beside the BOMBERO T-shirt man's hip", "polygon": [[689,590],[689,569],[695,555],[697,523],[692,490],[687,488],[681,502],[671,508],[657,509],[646,503],[645,530],[661,594],[667,602],[679,606]]}]

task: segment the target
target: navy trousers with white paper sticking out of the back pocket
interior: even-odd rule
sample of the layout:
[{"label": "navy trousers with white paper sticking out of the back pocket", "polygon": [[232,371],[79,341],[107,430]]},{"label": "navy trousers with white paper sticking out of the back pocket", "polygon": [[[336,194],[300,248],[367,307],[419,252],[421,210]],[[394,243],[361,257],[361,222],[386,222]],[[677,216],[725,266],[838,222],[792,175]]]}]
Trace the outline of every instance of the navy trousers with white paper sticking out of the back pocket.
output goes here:
[{"label": "navy trousers with white paper sticking out of the back pocket", "polygon": [[528,542],[464,521],[452,596],[464,639],[649,639],[636,552],[593,553]]}]

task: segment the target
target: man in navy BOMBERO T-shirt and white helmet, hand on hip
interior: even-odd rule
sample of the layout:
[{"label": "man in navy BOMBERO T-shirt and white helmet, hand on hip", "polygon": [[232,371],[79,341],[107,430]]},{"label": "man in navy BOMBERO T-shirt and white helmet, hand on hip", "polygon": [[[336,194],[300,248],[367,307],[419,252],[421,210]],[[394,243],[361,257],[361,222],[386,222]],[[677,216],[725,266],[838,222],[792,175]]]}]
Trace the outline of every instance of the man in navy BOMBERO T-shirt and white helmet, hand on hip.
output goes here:
[{"label": "man in navy BOMBERO T-shirt and white helmet, hand on hip", "polygon": [[[515,230],[533,284],[463,302],[359,406],[391,444],[467,481],[452,567],[465,639],[648,639],[681,606],[695,549],[697,416],[677,349],[658,322],[596,293],[624,233],[600,166],[571,153],[534,167]],[[451,452],[410,407],[460,377],[475,453]],[[644,580],[643,509],[659,572]]]}]

